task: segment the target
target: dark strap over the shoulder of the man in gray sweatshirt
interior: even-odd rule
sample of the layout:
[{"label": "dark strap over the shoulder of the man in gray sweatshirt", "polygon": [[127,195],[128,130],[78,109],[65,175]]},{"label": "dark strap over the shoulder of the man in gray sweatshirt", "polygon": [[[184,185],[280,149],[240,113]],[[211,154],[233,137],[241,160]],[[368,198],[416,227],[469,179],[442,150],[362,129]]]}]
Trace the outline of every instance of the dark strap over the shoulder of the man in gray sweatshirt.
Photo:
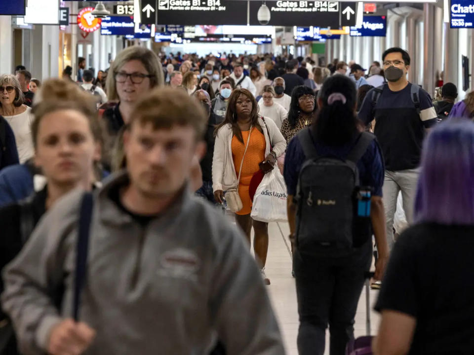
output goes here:
[{"label": "dark strap over the shoulder of the man in gray sweatshirt", "polygon": [[80,292],[84,286],[87,270],[87,254],[89,249],[89,232],[93,203],[92,193],[84,193],[80,205],[78,244],[76,249],[76,279],[73,300],[74,320],[76,321],[79,320]]}]

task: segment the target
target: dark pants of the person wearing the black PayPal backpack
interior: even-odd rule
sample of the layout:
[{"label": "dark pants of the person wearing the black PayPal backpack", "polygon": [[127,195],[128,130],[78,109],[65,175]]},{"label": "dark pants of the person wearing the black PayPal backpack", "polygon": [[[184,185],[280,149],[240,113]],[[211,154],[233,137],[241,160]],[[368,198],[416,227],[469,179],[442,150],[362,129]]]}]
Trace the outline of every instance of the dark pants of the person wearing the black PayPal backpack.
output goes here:
[{"label": "dark pants of the person wearing the black PayPal backpack", "polygon": [[324,354],[328,324],[329,354],[346,353],[348,341],[354,339],[357,302],[371,261],[371,240],[344,257],[313,257],[295,249],[300,355]]}]

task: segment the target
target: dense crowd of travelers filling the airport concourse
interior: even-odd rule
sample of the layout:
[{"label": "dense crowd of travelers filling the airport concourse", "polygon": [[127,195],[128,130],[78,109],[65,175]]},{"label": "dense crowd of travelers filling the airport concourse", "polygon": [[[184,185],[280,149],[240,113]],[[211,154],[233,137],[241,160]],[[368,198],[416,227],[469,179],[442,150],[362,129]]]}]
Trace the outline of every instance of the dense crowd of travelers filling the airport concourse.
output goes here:
[{"label": "dense crowd of travelers filling the airport concourse", "polygon": [[470,354],[474,92],[434,101],[410,65],[131,46],[0,75],[0,354],[285,354],[281,208],[300,355],[328,327],[346,354],[372,265],[373,354]]}]

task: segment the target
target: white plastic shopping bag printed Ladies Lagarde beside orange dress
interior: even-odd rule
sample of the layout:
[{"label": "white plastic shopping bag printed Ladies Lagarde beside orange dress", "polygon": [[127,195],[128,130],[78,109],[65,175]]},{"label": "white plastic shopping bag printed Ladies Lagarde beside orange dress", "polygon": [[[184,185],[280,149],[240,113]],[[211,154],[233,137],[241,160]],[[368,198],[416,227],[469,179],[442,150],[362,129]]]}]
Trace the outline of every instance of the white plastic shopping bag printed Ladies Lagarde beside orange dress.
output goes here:
[{"label": "white plastic shopping bag printed Ladies Lagarde beside orange dress", "polygon": [[279,169],[266,174],[253,198],[250,216],[262,222],[286,222],[286,184]]}]

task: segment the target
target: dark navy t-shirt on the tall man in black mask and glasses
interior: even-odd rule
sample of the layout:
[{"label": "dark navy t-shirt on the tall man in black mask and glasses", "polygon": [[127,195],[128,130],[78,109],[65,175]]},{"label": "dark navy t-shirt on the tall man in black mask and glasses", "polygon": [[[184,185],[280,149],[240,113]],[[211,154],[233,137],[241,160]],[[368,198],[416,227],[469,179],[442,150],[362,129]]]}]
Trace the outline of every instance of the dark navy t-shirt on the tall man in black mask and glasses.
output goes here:
[{"label": "dark navy t-shirt on the tall man in black mask and glasses", "polygon": [[382,147],[385,167],[390,171],[415,169],[420,165],[425,128],[436,123],[436,112],[430,94],[420,88],[418,114],[411,97],[411,83],[392,91],[384,85],[375,107],[372,106],[373,90],[362,102],[359,119],[369,124],[375,118],[374,133]]}]

